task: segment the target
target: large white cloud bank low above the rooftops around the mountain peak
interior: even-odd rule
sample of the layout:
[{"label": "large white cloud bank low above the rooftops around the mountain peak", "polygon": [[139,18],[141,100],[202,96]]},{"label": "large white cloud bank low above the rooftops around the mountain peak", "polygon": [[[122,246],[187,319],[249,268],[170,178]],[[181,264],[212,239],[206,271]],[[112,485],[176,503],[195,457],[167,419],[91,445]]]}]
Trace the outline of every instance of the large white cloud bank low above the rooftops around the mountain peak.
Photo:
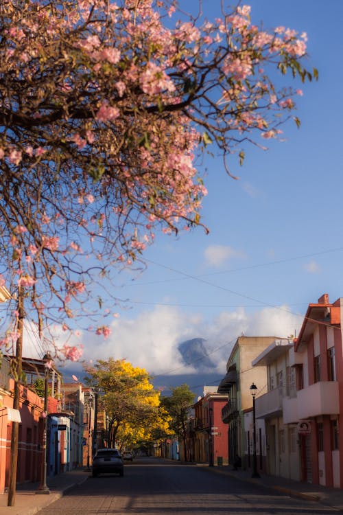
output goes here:
[{"label": "large white cloud bank low above the rooftops around the mountain peak", "polygon": [[[218,373],[225,373],[226,361],[238,336],[279,336],[294,334],[302,319],[287,312],[287,308],[264,308],[246,312],[222,312],[212,320],[199,314],[189,315],[180,308],[156,306],[141,312],[137,318],[113,321],[108,339],[90,333],[83,334],[86,362],[126,359],[134,367],[145,368],[150,374],[194,373],[191,365],[182,365],[178,345],[187,339],[203,338],[211,361]],[[82,365],[68,362],[65,369],[82,376]]]}]

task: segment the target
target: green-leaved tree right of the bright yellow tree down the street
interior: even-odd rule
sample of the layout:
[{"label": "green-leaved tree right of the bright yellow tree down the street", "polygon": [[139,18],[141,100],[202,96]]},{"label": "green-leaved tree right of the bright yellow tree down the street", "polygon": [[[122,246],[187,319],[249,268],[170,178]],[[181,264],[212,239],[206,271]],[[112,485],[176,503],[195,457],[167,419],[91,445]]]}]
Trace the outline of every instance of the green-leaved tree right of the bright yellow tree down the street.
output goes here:
[{"label": "green-leaved tree right of the bright yellow tree down the street", "polygon": [[[171,417],[169,427],[179,439],[182,439],[185,451],[187,446],[187,420],[191,413],[195,396],[196,394],[189,389],[189,386],[183,384],[179,387],[171,388],[171,396],[161,398],[161,405]],[[185,456],[187,456],[186,452]]]}]

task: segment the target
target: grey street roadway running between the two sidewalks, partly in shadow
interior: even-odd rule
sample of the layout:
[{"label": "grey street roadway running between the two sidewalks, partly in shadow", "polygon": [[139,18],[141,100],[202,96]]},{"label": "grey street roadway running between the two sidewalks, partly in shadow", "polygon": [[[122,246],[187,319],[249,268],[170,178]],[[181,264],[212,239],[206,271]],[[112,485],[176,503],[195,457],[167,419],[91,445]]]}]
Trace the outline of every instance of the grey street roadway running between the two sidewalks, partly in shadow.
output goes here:
[{"label": "grey street roadway running between the two sidewalks, partly in shadow", "polygon": [[89,477],[40,515],[333,515],[333,508],[277,494],[209,467],[149,458],[126,463],[124,477]]}]

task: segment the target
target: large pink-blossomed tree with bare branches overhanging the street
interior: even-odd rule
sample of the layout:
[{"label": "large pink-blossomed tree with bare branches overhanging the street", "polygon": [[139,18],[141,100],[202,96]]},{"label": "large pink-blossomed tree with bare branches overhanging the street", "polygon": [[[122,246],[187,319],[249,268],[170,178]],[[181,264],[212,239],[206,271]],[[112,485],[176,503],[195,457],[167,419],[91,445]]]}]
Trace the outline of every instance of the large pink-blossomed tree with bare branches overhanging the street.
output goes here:
[{"label": "large pink-blossomed tree with bare branches overhanging the street", "polygon": [[241,4],[208,21],[167,0],[2,0],[0,38],[0,279],[40,330],[104,315],[95,282],[156,231],[202,225],[200,152],[233,175],[316,78],[306,34],[265,32]]}]

